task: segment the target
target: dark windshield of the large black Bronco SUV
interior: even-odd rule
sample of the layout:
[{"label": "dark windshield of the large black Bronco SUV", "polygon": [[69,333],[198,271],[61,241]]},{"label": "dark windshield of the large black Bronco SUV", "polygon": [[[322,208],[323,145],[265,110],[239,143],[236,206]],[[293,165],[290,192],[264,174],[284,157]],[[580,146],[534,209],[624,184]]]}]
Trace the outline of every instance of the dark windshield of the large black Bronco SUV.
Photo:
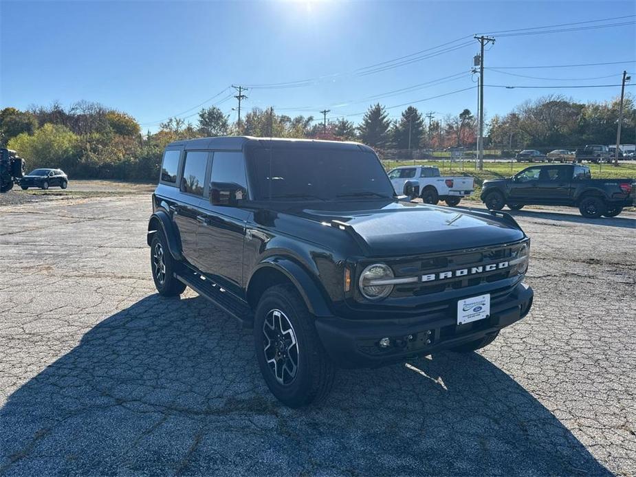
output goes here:
[{"label": "dark windshield of the large black Bronco SUV", "polygon": [[[393,198],[395,191],[372,153],[323,148],[258,148],[248,157],[256,200]],[[270,180],[271,177],[271,180]]]}]

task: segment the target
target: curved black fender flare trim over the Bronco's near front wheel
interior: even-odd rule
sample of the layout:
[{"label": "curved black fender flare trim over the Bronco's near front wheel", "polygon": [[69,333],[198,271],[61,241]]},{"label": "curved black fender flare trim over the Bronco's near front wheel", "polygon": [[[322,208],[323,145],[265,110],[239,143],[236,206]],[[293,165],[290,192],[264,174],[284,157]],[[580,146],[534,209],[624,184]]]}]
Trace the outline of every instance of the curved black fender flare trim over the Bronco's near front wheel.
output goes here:
[{"label": "curved black fender flare trim over the Bronco's near front wheel", "polygon": [[307,269],[298,264],[295,260],[283,256],[269,256],[259,263],[259,265],[254,269],[252,277],[250,277],[248,290],[250,289],[250,286],[252,286],[252,278],[254,275],[265,267],[270,267],[276,271],[280,271],[289,279],[290,282],[292,282],[312,315],[316,317],[333,316],[331,309],[329,309],[327,299],[325,298],[325,293],[320,290],[320,287],[314,278],[311,278]]}]

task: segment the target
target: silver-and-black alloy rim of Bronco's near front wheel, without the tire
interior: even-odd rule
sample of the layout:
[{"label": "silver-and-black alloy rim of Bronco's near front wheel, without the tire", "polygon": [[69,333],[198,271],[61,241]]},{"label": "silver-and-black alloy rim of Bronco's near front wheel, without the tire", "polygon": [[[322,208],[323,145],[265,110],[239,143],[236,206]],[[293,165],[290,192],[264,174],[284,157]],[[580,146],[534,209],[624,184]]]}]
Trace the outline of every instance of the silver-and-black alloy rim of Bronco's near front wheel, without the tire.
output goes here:
[{"label": "silver-and-black alloy rim of Bronco's near front wheel, without the tire", "polygon": [[291,384],[298,373],[298,341],[283,311],[273,309],[263,322],[263,352],[276,381]]}]

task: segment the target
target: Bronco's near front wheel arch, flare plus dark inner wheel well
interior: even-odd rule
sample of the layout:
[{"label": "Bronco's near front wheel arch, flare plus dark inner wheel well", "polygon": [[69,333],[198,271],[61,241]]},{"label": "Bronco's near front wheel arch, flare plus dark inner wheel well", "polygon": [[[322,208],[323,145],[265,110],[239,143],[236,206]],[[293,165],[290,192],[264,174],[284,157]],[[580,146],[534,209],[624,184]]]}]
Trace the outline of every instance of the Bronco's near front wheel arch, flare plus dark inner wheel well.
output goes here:
[{"label": "Bronco's near front wheel arch, flare plus dark inner wheel well", "polygon": [[307,309],[314,316],[331,316],[325,293],[309,271],[291,258],[270,256],[261,262],[250,277],[246,291],[248,303],[256,309],[259,299],[268,288],[281,283],[294,285]]}]

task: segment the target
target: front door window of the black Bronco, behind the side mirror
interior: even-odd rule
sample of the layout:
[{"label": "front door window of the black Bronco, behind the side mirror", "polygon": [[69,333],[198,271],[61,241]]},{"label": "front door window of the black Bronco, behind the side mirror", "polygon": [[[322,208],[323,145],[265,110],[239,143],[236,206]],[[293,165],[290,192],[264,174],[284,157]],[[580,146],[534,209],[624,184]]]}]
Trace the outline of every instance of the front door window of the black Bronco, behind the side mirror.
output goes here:
[{"label": "front door window of the black Bronco, behind the side mirror", "polygon": [[210,201],[232,205],[235,201],[247,199],[246,195],[243,153],[215,153],[210,174]]}]

